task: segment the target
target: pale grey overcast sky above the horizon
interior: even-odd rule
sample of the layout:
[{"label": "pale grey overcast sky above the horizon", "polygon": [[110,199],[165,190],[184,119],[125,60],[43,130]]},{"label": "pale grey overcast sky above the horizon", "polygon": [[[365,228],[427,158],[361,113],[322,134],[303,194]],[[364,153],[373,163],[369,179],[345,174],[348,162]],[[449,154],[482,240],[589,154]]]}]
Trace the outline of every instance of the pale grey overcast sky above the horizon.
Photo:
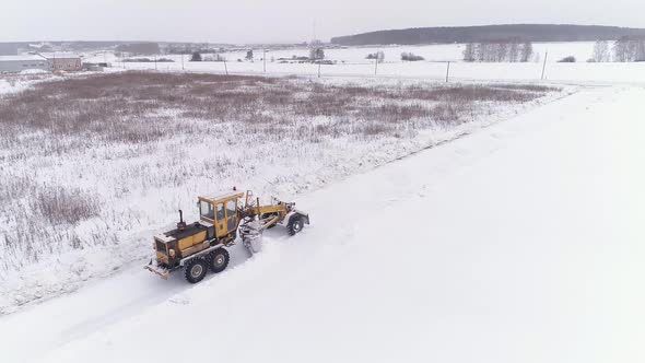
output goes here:
[{"label": "pale grey overcast sky above the horizon", "polygon": [[645,0],[7,0],[0,42],[304,42],[377,30],[516,23],[645,27]]}]

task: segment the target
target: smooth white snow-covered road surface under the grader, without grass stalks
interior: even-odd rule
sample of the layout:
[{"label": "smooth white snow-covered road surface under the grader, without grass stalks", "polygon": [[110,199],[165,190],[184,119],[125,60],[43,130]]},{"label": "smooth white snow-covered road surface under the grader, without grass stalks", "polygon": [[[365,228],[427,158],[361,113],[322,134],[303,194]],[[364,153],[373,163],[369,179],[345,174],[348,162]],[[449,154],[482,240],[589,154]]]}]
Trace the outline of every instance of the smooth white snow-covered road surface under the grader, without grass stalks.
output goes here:
[{"label": "smooth white snow-covered road surface under the grader, without grass stalks", "polygon": [[2,362],[643,362],[645,89],[586,89],[304,196],[198,285],[0,318]]}]

